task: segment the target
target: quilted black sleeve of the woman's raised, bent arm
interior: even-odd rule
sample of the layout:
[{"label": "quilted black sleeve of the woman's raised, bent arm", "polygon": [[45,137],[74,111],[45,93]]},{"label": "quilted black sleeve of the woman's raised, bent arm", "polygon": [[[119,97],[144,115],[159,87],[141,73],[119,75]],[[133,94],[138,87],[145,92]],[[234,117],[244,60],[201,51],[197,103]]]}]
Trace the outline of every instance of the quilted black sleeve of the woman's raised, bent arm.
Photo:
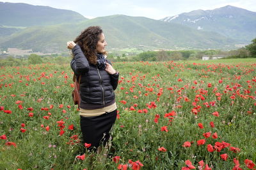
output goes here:
[{"label": "quilted black sleeve of the woman's raised, bent arm", "polygon": [[74,58],[70,62],[70,66],[76,75],[89,71],[89,62],[84,56],[83,51],[79,45],[74,46],[72,49]]}]

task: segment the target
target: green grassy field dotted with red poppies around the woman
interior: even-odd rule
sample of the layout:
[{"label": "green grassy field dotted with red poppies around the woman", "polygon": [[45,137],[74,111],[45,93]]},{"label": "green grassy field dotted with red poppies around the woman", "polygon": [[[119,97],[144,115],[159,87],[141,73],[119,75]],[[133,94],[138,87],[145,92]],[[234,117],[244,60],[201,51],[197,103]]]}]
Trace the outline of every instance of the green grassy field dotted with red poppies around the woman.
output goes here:
[{"label": "green grassy field dotted with red poppies around the woman", "polygon": [[0,169],[256,169],[256,59],[113,66],[106,160],[83,152],[69,64],[1,67]]}]

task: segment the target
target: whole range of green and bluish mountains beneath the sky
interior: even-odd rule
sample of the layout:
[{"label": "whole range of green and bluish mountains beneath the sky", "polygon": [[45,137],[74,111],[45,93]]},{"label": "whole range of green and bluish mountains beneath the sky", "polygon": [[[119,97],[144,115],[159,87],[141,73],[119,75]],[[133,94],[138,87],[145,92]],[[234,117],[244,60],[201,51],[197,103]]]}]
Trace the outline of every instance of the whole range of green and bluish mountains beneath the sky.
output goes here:
[{"label": "whole range of green and bluish mountains beneath the sky", "polygon": [[[4,15],[2,15],[3,9],[7,8],[6,6],[8,10],[5,10]],[[237,9],[232,16],[242,16],[246,11],[232,6],[225,6],[215,11],[221,10],[225,13],[225,9],[229,8]],[[19,9],[19,12],[16,12],[15,9]],[[227,10],[230,16],[231,11]],[[79,13],[69,10],[22,3],[0,3],[0,15],[4,16],[0,19],[0,48],[16,47],[47,53],[67,52],[66,42],[75,39],[83,29],[90,25],[100,25],[102,27],[110,51],[124,48],[140,48],[143,50],[232,49],[236,48],[235,45],[237,44],[250,43],[255,38],[255,34],[252,33],[253,29],[249,27],[256,23],[253,20],[255,13],[252,11],[249,11],[252,15],[245,13],[241,17],[246,26],[243,26],[243,29],[237,29],[237,32],[240,33],[234,33],[236,36],[228,36],[230,24],[226,23],[229,20],[227,17],[222,18],[222,25],[221,22],[218,22],[219,29],[223,31],[216,28],[215,30],[208,29],[212,25],[208,24],[207,27],[207,22],[204,25],[191,26],[184,24],[184,22],[181,23],[181,20],[176,20],[176,18],[181,18],[180,16],[185,16],[185,14],[194,16],[197,13],[198,16],[201,16],[208,12],[210,11],[191,11],[190,14],[182,13],[179,17],[166,17],[163,20],[126,15],[111,15],[89,20]],[[33,17],[29,18],[30,15],[33,15]],[[188,16],[183,18],[196,20],[196,17],[188,18]],[[211,16],[215,15],[212,14]],[[218,19],[220,18],[218,17]],[[233,25],[236,25],[236,20],[233,22]],[[241,24],[240,20],[237,20],[237,23],[238,25]],[[225,31],[227,33],[224,34]],[[248,32],[251,32],[251,34]],[[246,36],[243,36],[244,34]],[[239,36],[242,38],[239,38]]]}]

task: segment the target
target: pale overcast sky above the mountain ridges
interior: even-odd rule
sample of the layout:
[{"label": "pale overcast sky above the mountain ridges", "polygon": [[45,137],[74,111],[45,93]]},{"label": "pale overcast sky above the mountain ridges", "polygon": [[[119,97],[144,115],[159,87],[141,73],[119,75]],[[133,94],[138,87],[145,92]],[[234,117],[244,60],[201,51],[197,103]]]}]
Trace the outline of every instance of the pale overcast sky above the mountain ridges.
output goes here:
[{"label": "pale overcast sky above the mountain ridges", "polygon": [[213,10],[228,4],[256,11],[255,0],[10,0],[3,2],[28,3],[72,10],[86,18],[122,14],[158,20],[193,10]]}]

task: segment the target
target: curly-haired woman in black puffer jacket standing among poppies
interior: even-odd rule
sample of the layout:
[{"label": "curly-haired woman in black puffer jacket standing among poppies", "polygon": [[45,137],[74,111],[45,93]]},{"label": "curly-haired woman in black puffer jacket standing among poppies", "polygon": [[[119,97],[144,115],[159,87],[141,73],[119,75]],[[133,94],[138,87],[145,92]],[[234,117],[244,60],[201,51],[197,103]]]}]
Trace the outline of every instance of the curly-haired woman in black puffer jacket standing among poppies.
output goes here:
[{"label": "curly-haired woman in black puffer jacket standing among poppies", "polygon": [[70,66],[80,80],[80,125],[89,150],[106,145],[116,120],[115,92],[119,73],[106,60],[105,36],[99,26],[85,29],[68,41],[73,59]]}]

